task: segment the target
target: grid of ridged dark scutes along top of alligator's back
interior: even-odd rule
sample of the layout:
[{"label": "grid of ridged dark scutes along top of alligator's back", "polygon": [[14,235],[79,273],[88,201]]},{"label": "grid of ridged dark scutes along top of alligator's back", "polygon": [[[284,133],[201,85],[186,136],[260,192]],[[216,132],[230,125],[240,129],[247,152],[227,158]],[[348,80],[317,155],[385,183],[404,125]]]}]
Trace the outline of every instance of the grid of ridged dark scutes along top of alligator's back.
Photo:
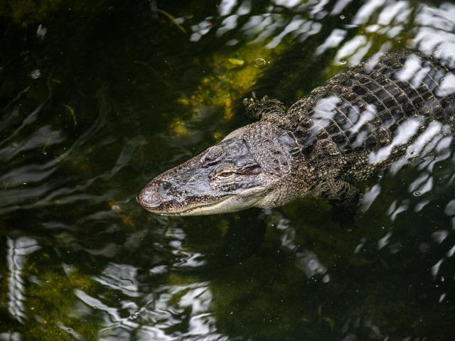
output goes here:
[{"label": "grid of ridged dark scutes along top of alligator's back", "polygon": [[424,124],[452,119],[454,90],[441,87],[448,75],[450,70],[424,55],[388,53],[316,88],[289,109],[289,120],[297,115],[300,125],[305,119],[303,125],[311,125],[298,136],[303,146],[326,140],[341,153],[380,148],[408,117],[422,115]]}]

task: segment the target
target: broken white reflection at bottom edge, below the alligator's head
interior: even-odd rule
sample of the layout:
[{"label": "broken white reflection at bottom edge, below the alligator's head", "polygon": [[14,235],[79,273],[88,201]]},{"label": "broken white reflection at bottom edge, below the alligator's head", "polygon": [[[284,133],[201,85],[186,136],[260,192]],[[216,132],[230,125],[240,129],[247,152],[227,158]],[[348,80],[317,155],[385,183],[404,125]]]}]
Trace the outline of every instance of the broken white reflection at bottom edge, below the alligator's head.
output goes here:
[{"label": "broken white reflection at bottom edge, below the alligator's head", "polygon": [[[100,301],[77,293],[82,301],[97,306],[114,317],[102,330],[100,340],[228,340],[216,328],[213,315],[213,294],[208,282],[187,285],[159,286],[154,293],[144,296],[144,308],[134,312],[132,317],[119,319]],[[188,323],[186,331],[176,330],[176,326]],[[119,335],[121,335],[120,338]],[[151,339],[153,337],[153,339]]]}]

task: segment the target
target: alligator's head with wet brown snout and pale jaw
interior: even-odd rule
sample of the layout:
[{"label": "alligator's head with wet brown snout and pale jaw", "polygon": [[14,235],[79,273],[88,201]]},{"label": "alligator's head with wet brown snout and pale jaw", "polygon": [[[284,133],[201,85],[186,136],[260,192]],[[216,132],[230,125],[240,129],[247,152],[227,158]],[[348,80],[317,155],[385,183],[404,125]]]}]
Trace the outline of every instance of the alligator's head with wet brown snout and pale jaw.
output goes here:
[{"label": "alligator's head with wet brown snout and pale jaw", "polygon": [[[157,176],[139,194],[146,210],[161,215],[208,215],[248,207],[274,207],[292,199],[292,134],[259,121],[232,131],[191,160]],[[286,185],[285,185],[286,184]]]}]

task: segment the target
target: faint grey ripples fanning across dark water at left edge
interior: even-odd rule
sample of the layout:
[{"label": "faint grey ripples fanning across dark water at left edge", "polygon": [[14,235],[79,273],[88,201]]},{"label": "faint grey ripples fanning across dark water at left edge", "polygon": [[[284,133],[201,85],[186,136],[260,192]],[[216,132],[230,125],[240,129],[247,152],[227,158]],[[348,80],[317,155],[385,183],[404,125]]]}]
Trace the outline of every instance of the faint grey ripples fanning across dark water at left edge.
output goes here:
[{"label": "faint grey ripples fanning across dark water at left edge", "polygon": [[[52,90],[49,88],[48,92],[50,97]],[[18,95],[11,102],[11,106],[16,104],[21,107],[22,96],[22,94]],[[85,178],[83,183],[74,184],[72,179],[55,176],[55,173],[65,162],[68,162],[78,148],[87,144],[87,140],[102,129],[107,113],[101,109],[100,116],[92,125],[82,131],[75,141],[64,146],[66,141],[60,132],[61,127],[56,130],[50,128],[48,124],[40,126],[41,110],[47,101],[48,99],[28,114],[18,127],[16,127],[18,121],[21,121],[18,114],[9,112],[9,115],[6,115],[9,116],[9,120],[0,122],[0,130],[13,130],[11,133],[7,130],[4,139],[0,141],[0,163],[3,171],[0,178],[3,188],[0,192],[0,214],[37,207],[54,207],[83,200],[93,200],[92,202],[100,200],[100,197],[97,199],[97,196],[85,192],[98,180],[98,177]],[[36,121],[38,124],[34,124]],[[19,135],[25,136],[20,144],[15,142]],[[41,163],[35,163],[36,158],[33,158],[33,163],[28,163],[28,158],[36,153],[41,155],[39,158]],[[100,175],[100,178],[102,176],[109,175]],[[58,180],[50,180],[52,177]]]}]

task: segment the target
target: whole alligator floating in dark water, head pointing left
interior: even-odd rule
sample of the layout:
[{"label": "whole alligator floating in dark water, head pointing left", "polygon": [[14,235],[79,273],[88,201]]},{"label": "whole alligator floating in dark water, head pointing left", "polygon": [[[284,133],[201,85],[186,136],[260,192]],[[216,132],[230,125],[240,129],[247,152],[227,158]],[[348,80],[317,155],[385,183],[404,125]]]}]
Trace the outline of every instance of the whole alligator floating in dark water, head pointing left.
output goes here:
[{"label": "whole alligator floating in dark water, head pointing left", "polygon": [[[139,203],[161,215],[208,215],[321,197],[358,207],[358,185],[451,142],[455,75],[431,55],[400,51],[348,67],[286,109],[245,99],[257,118],[158,175]],[[355,211],[355,210],[354,210]]]}]

